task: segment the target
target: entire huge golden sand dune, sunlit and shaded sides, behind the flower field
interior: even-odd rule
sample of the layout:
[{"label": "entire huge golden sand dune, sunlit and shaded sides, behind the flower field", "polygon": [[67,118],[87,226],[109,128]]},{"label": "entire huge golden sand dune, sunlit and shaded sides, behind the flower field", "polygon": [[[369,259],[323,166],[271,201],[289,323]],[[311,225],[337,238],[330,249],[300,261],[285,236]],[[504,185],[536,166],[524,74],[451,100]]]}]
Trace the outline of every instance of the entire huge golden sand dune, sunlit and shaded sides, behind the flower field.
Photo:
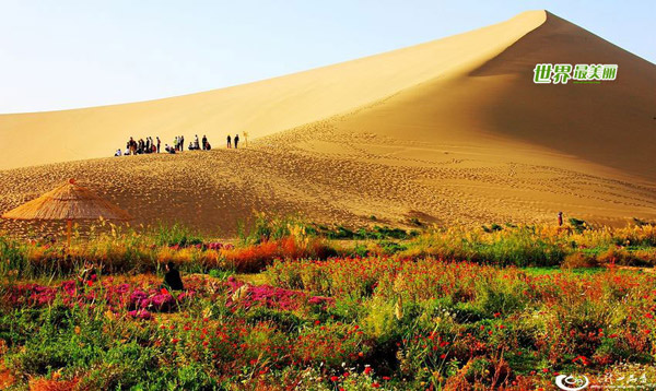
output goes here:
[{"label": "entire huge golden sand dune, sunlit and shaded sides, behind the flower field", "polygon": [[[617,63],[536,85],[536,63]],[[74,177],[132,224],[234,235],[253,211],[408,226],[656,220],[656,66],[546,11],[377,56],[160,100],[0,116],[0,210]],[[226,150],[247,131],[246,149]],[[103,157],[126,140],[214,150]],[[372,221],[371,216],[376,216]],[[0,222],[0,229],[27,227]]]}]

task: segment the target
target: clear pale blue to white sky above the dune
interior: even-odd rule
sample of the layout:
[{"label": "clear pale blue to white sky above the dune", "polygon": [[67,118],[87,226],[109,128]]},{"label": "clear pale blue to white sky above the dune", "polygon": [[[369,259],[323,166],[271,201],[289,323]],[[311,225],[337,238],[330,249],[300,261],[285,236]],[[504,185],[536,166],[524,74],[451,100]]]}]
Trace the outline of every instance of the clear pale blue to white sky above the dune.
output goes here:
[{"label": "clear pale blue to white sky above the dune", "polygon": [[656,63],[653,0],[0,0],[0,112],[243,84],[538,9]]}]

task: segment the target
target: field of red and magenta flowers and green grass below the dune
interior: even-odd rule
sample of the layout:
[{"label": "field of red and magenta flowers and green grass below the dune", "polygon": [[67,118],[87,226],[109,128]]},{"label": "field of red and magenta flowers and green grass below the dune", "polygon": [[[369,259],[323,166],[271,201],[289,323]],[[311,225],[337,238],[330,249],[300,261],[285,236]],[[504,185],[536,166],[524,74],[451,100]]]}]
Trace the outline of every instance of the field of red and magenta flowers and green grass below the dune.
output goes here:
[{"label": "field of red and magenta flowers and green grass below the dune", "polygon": [[[260,216],[232,242],[179,226],[107,227],[68,250],[0,239],[0,386],[549,390],[560,374],[656,382],[652,225],[408,233]],[[169,260],[184,292],[161,287]]]}]

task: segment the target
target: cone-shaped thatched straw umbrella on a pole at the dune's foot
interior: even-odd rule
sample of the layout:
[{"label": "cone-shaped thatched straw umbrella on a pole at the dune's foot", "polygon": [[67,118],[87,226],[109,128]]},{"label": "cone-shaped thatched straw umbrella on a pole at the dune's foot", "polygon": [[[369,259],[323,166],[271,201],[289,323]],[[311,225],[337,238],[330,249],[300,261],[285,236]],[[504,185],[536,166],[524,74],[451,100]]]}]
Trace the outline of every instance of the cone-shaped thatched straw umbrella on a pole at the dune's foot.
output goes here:
[{"label": "cone-shaped thatched straw umbrella on a pole at the dune's foot", "polygon": [[103,200],[93,191],[75,183],[74,179],[48,191],[2,215],[13,220],[66,220],[68,245],[71,245],[73,220],[118,220],[132,216],[122,209]]}]

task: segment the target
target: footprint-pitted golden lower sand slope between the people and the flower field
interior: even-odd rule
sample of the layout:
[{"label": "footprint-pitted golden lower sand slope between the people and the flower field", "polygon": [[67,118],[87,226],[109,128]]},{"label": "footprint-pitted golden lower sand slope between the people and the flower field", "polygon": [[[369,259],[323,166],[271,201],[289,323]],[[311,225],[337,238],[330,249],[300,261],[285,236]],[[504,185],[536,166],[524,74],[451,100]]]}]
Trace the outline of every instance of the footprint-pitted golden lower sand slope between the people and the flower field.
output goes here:
[{"label": "footprint-pitted golden lower sand slope between the people and the flower field", "polygon": [[[10,183],[0,192],[0,208],[10,209],[74,177],[128,210],[137,217],[132,224],[180,222],[221,237],[233,236],[237,222],[254,211],[301,212],[314,222],[351,226],[410,227],[412,217],[440,225],[553,223],[561,210],[566,216],[611,225],[632,217],[656,220],[654,185],[520,162],[477,146],[353,134],[343,142],[330,132],[312,132],[298,141],[297,133],[312,129],[236,151],[0,171],[0,180]],[[286,138],[296,142],[282,146]],[[554,156],[546,153],[542,158]],[[35,225],[2,221],[0,229],[26,234]]]}]

